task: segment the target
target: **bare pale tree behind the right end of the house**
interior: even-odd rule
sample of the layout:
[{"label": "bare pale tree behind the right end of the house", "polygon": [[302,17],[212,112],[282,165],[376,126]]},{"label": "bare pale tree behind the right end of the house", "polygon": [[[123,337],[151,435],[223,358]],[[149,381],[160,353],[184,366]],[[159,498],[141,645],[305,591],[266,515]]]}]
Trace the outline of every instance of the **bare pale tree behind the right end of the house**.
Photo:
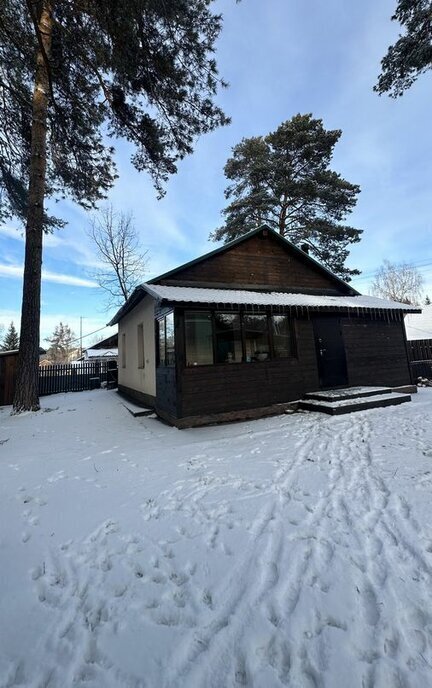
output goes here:
[{"label": "bare pale tree behind the right end of the house", "polygon": [[389,260],[384,261],[372,283],[376,296],[415,305],[420,302],[422,287],[423,277],[415,267]]}]

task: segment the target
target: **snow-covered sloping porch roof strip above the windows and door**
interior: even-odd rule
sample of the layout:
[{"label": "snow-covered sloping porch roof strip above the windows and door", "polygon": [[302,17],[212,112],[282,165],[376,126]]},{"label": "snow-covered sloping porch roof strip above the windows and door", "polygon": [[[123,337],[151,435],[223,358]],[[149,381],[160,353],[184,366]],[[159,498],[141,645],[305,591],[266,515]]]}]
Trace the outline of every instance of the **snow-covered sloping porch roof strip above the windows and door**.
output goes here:
[{"label": "snow-covered sloping porch roof strip above the windows and door", "polygon": [[219,303],[248,306],[298,306],[303,308],[343,308],[418,311],[417,306],[387,301],[376,296],[324,296],[284,292],[248,291],[246,289],[207,289],[203,287],[166,287],[143,284],[143,289],[158,300],[183,303]]}]

